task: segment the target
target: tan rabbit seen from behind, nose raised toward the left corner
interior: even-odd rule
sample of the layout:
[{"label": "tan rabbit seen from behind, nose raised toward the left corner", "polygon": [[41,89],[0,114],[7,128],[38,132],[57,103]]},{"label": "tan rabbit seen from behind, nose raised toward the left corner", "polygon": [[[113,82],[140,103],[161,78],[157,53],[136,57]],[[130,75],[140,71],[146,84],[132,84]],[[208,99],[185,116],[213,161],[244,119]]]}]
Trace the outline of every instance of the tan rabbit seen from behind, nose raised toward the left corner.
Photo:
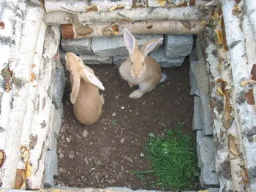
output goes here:
[{"label": "tan rabbit seen from behind, nose raised toward the left corner", "polygon": [[104,104],[98,88],[102,90],[105,88],[94,75],[94,71],[84,65],[80,57],[74,53],[67,53],[65,59],[70,72],[72,85],[70,100],[74,104],[75,117],[80,123],[91,125],[99,119]]}]

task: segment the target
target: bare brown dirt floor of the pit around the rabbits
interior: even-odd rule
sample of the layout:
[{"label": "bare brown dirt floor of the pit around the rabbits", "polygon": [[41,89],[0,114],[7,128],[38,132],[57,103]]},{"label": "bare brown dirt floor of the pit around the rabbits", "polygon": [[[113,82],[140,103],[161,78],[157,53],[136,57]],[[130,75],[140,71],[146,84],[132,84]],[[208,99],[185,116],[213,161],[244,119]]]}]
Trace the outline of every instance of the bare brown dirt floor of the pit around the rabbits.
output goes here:
[{"label": "bare brown dirt floor of the pit around the rabbits", "polygon": [[[143,188],[143,182],[129,171],[150,170],[143,158],[148,134],[162,136],[184,122],[183,131],[192,135],[193,98],[189,95],[189,63],[162,69],[169,79],[140,99],[129,99],[129,88],[115,66],[91,66],[105,86],[102,116],[93,126],[75,119],[69,100],[70,82],[64,91],[64,120],[58,139],[57,185],[78,188],[113,186]],[[154,188],[157,189],[157,188]]]}]

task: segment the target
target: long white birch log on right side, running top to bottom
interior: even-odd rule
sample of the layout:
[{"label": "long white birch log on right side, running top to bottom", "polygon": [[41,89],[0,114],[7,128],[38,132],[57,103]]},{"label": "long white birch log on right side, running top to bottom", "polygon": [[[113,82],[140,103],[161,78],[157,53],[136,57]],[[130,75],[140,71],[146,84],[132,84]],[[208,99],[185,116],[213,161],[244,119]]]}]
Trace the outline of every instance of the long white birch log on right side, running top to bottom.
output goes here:
[{"label": "long white birch log on right side, running top to bottom", "polygon": [[[245,169],[248,169],[249,176],[251,174],[252,178],[254,178],[255,173],[253,170],[255,169],[256,162],[256,155],[254,154],[256,149],[253,142],[249,142],[252,138],[246,137],[246,135],[254,135],[253,131],[255,131],[256,126],[256,115],[254,107],[247,104],[245,99],[243,100],[246,87],[241,86],[241,81],[248,80],[250,73],[247,68],[244,34],[241,31],[238,16],[233,15],[232,12],[235,5],[236,0],[222,0],[222,12],[227,34],[227,46],[229,48],[230,66],[233,74],[232,98],[234,119],[236,120],[236,134],[238,139],[242,142],[238,145],[238,149],[239,153],[244,154],[244,159],[246,161]],[[234,145],[236,146],[236,142]],[[241,188],[236,185],[236,183],[241,181],[241,175],[239,175],[239,172],[238,174],[232,173],[232,176],[234,175],[236,178],[233,178],[233,187],[238,187],[237,190],[241,191]],[[255,185],[253,180],[251,180],[249,188],[252,188],[252,185]],[[233,188],[233,191],[236,191],[236,189]]]}]

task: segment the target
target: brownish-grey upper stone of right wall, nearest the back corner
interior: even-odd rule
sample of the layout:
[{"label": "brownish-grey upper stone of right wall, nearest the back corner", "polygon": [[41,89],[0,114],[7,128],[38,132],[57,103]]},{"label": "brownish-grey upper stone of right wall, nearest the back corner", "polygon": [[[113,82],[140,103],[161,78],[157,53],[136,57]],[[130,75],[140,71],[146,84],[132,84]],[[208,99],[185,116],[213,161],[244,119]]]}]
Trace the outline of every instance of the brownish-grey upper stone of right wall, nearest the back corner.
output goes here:
[{"label": "brownish-grey upper stone of right wall, nearest the back corner", "polygon": [[200,59],[197,64],[195,64],[194,70],[197,88],[199,89],[199,96],[207,96],[209,93],[209,80],[206,63],[203,61],[203,59]]}]

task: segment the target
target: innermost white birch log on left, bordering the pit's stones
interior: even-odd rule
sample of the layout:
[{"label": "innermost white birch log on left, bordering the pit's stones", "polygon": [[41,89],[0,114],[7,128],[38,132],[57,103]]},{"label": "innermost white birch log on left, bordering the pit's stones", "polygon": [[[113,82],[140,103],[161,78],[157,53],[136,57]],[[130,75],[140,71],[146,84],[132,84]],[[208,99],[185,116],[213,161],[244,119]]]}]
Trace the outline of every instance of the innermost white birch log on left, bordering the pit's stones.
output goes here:
[{"label": "innermost white birch log on left, bordering the pit's stones", "polygon": [[28,177],[28,187],[42,188],[42,178],[45,171],[45,155],[48,150],[48,129],[52,107],[53,82],[58,61],[60,42],[59,26],[49,26],[46,31],[43,64],[38,77],[37,100],[34,101],[36,112],[32,123],[31,135],[37,137],[37,142],[31,147],[30,161],[33,165],[31,177]]}]

